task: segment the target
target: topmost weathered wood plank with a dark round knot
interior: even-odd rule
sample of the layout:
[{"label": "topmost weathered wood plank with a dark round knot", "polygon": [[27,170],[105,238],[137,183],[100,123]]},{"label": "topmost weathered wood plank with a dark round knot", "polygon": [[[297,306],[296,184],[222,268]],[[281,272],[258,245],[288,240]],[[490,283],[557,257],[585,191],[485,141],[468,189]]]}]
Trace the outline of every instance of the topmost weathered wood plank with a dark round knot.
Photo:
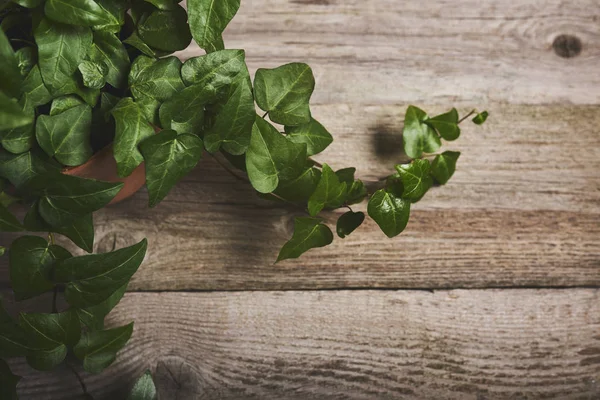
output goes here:
[{"label": "topmost weathered wood plank with a dark round knot", "polygon": [[225,41],[252,72],[308,62],[317,104],[597,104],[599,21],[596,0],[252,0]]}]

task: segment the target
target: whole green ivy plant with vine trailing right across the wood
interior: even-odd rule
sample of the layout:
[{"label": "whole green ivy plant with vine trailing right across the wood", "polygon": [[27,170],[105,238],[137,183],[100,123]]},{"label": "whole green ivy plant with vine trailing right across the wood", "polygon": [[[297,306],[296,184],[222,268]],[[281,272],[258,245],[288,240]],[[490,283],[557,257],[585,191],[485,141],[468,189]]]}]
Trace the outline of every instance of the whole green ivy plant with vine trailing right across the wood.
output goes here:
[{"label": "whole green ivy plant with vine trailing right across the wood", "polygon": [[[475,114],[479,125],[488,116],[461,119],[456,109],[430,116],[409,106],[403,150],[412,161],[374,185],[352,167],[321,164],[312,157],[333,137],[311,113],[311,68],[290,63],[252,77],[244,50],[225,49],[222,37],[239,6],[0,0],[0,230],[23,232],[0,254],[8,249],[17,301],[52,299],[48,313],[0,308],[0,399],[17,398],[14,357],[42,371],[67,365],[91,398],[78,371],[108,367],[133,332],[133,323],[106,328],[104,318],[144,260],[146,240],[93,253],[93,213],[123,184],[65,175],[65,168],[111,146],[120,178],[144,163],[153,207],[208,154],[260,197],[299,210],[282,261],[330,244],[335,215],[337,236],[351,235],[366,219],[351,206],[364,201],[385,235],[400,234],[411,206],[455,172],[460,153],[440,152],[443,143],[460,136],[466,118]],[[192,39],[206,54],[183,63],[170,55]],[[17,217],[15,210],[25,211]],[[74,256],[55,235],[89,254]],[[153,397],[146,377],[130,398]]]}]

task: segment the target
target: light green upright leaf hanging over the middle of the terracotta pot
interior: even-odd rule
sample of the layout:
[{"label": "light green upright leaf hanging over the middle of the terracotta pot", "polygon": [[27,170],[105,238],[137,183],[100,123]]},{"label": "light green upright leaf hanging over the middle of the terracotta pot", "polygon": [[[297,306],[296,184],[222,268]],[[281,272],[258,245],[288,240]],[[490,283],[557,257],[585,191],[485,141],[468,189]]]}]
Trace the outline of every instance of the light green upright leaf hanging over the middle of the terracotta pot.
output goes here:
[{"label": "light green upright leaf hanging over the middle of the terracotta pot", "polygon": [[121,99],[111,113],[117,124],[113,146],[117,172],[120,177],[126,177],[144,161],[138,144],[154,135],[154,129],[140,107],[129,97]]}]

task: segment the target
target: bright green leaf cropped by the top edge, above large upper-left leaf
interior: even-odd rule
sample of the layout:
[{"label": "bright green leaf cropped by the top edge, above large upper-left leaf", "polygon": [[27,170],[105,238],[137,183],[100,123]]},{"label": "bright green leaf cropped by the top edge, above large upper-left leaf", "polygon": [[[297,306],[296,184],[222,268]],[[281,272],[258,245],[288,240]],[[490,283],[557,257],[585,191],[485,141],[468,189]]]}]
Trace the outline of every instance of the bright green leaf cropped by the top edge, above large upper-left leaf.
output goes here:
[{"label": "bright green leaf cropped by the top edge, above large upper-left leaf", "polygon": [[94,0],[46,0],[44,13],[63,24],[94,26],[113,22],[112,16]]}]

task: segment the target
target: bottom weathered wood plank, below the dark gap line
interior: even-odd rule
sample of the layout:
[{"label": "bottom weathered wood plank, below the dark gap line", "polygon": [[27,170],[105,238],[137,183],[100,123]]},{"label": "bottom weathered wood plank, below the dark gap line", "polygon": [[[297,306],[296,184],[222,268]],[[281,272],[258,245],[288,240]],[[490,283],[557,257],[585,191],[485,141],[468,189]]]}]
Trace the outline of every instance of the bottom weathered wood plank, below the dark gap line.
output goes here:
[{"label": "bottom weathered wood plank, below the dark gap line", "polygon": [[[97,399],[157,366],[162,399],[600,397],[600,290],[130,293],[109,318],[136,327]],[[16,371],[22,400],[80,390]]]}]

